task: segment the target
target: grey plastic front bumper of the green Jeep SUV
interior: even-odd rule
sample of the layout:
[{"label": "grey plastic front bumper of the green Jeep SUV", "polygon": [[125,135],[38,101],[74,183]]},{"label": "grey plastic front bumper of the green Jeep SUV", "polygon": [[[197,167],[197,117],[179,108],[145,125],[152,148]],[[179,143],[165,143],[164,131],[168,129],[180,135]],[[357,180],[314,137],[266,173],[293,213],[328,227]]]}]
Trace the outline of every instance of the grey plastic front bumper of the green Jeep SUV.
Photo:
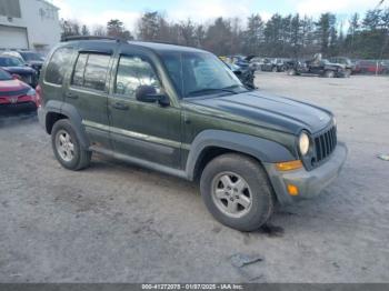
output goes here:
[{"label": "grey plastic front bumper of the green Jeep SUV", "polygon": [[[278,201],[280,204],[289,204],[316,197],[327,188],[339,175],[345,164],[347,153],[346,144],[339,142],[331,158],[322,165],[311,171],[299,169],[281,172],[276,169],[273,163],[265,163],[263,165],[268,172]],[[288,193],[287,184],[289,183],[298,187],[298,195],[290,195]]]}]

